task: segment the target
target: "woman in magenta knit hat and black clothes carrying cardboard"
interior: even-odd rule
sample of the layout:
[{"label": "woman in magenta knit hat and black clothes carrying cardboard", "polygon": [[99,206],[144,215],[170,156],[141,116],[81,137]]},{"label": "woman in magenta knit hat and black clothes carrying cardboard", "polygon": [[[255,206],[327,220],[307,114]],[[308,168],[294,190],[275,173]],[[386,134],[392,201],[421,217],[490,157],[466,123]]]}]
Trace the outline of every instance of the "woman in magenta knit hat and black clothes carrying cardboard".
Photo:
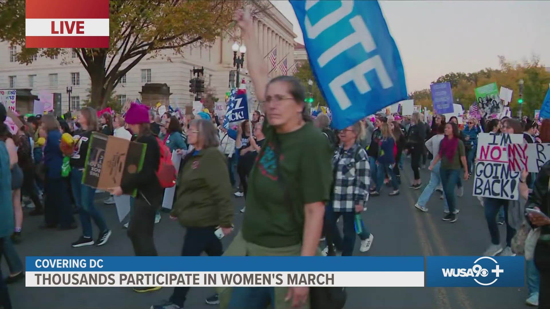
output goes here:
[{"label": "woman in magenta knit hat and black clothes carrying cardboard", "polygon": [[[119,187],[114,187],[113,195],[131,194],[138,190],[134,201],[128,227],[128,237],[134,247],[136,256],[157,256],[155,242],[153,242],[153,226],[155,214],[162,203],[164,190],[158,182],[156,171],[160,164],[161,151],[157,137],[152,134],[149,124],[148,108],[141,104],[132,103],[125,117],[131,131],[137,136],[133,140],[147,145],[143,167],[140,172],[125,178]],[[155,291],[160,286],[134,288],[136,292]]]}]

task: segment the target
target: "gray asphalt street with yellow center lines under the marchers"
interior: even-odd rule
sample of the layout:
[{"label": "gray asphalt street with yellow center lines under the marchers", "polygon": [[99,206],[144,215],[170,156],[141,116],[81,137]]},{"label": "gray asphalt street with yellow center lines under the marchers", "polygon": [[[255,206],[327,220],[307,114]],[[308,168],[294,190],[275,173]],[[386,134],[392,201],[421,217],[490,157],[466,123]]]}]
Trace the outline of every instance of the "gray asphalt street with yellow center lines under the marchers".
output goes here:
[{"label": "gray asphalt street with yellow center lines under the marchers", "polygon": [[[370,251],[359,252],[359,239],[355,246],[357,256],[430,256],[430,255],[482,255],[489,245],[489,233],[483,207],[471,196],[472,180],[464,183],[464,196],[458,197],[460,213],[455,223],[441,220],[443,201],[434,194],[428,203],[430,212],[423,213],[414,207],[422,189],[408,186],[412,180],[410,164],[405,163],[401,178],[400,195],[388,196],[384,187],[379,197],[372,197],[363,213],[365,224],[374,236]],[[429,171],[421,171],[423,185]],[[42,217],[25,217],[23,242],[16,245],[19,255],[25,256],[132,256],[134,255],[126,229],[118,222],[114,205],[103,205],[105,195],[97,195],[97,205],[106,217],[113,234],[101,247],[73,248],[71,242],[80,235],[80,228],[69,231],[40,230]],[[241,226],[244,198],[235,198],[235,228]],[[504,241],[504,226],[500,226]],[[97,230],[95,234],[97,235]],[[180,253],[185,229],[162,213],[155,225],[155,242],[160,255],[177,256]],[[223,239],[225,247],[233,235]],[[7,273],[5,261],[2,271]],[[26,288],[23,281],[9,286],[15,309],[79,308],[79,309],[145,309],[160,300],[168,299],[172,288],[152,293],[134,293],[131,288]],[[213,293],[211,288],[193,288],[188,294],[185,308],[216,308],[205,304]],[[527,308],[527,288],[349,288],[345,308],[372,309],[521,309]]]}]

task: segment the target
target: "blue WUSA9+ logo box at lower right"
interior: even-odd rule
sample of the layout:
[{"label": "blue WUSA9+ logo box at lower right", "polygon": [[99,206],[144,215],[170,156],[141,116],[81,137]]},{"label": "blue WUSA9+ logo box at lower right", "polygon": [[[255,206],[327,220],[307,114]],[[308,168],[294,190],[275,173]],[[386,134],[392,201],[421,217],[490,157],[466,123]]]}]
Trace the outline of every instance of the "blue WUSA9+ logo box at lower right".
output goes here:
[{"label": "blue WUSA9+ logo box at lower right", "polygon": [[524,286],[522,256],[429,256],[426,286]]}]

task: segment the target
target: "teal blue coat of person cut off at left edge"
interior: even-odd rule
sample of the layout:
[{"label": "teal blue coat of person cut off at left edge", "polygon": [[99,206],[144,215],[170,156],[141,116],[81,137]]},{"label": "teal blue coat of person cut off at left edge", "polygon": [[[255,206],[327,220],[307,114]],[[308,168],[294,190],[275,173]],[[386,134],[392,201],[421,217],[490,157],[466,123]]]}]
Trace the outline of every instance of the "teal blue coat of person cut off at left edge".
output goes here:
[{"label": "teal blue coat of person cut off at left edge", "polygon": [[12,235],[13,228],[12,172],[8,148],[0,141],[0,238]]}]

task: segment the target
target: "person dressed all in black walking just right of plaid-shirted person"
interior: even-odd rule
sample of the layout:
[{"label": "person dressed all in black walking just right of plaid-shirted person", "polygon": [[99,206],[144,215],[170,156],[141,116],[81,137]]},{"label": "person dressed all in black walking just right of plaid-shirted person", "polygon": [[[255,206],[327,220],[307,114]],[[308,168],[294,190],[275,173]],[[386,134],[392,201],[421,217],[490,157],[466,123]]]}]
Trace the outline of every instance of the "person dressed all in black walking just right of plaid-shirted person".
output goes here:
[{"label": "person dressed all in black walking just right of plaid-shirted person", "polygon": [[411,154],[411,168],[414,173],[414,180],[409,186],[411,189],[420,189],[422,180],[420,179],[420,160],[424,140],[426,139],[426,128],[423,125],[420,113],[412,113],[411,126],[406,135],[406,149]]}]

